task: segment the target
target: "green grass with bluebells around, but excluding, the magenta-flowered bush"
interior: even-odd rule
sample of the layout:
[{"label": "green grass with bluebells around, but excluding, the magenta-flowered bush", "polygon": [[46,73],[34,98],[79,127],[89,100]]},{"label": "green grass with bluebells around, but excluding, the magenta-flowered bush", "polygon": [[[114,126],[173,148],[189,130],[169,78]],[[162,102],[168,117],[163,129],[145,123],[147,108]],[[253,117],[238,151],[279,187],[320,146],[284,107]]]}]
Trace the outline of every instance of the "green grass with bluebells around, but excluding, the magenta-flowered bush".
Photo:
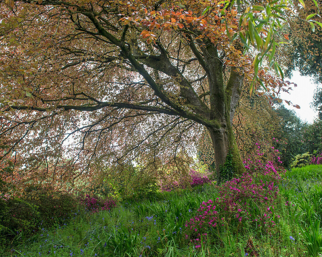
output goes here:
[{"label": "green grass with bluebells around, but excluding, the magenta-flowered bush", "polygon": [[[322,246],[322,166],[286,173],[269,233],[254,226],[226,224],[202,237],[201,247],[185,238],[185,221],[202,201],[214,199],[212,185],[167,192],[159,200],[122,202],[112,211],[76,214],[63,226],[43,229],[0,256],[238,256],[249,248],[259,256],[318,256]],[[292,240],[294,239],[294,240]]]}]

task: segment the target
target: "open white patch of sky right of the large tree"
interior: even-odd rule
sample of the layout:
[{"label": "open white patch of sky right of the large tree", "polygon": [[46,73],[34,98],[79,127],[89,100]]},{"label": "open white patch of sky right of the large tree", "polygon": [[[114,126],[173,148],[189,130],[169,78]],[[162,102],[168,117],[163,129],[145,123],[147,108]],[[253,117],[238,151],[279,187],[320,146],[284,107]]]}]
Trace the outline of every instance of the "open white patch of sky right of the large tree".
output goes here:
[{"label": "open white patch of sky right of the large tree", "polygon": [[296,83],[298,86],[293,87],[288,93],[281,93],[280,98],[291,101],[294,105],[299,105],[301,108],[297,109],[284,103],[284,106],[290,110],[294,110],[302,121],[312,123],[317,118],[317,112],[310,107],[313,101],[314,90],[317,87],[322,87],[322,84],[314,83],[309,76],[301,76],[299,71],[294,71],[291,78],[285,78],[290,82]]}]

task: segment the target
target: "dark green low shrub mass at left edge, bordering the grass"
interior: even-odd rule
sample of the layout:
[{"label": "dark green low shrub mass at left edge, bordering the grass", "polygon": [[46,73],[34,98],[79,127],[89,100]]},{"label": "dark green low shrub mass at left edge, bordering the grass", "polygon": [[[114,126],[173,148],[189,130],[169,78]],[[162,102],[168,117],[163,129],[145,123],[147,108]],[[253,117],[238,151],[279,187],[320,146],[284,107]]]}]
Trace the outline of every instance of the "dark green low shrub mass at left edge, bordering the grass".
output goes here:
[{"label": "dark green low shrub mass at left edge, bordering the grass", "polygon": [[57,192],[51,195],[45,189],[35,188],[28,188],[24,197],[2,196],[0,241],[4,245],[10,245],[16,239],[26,239],[43,227],[67,223],[66,220],[77,211],[77,202],[68,193]]}]

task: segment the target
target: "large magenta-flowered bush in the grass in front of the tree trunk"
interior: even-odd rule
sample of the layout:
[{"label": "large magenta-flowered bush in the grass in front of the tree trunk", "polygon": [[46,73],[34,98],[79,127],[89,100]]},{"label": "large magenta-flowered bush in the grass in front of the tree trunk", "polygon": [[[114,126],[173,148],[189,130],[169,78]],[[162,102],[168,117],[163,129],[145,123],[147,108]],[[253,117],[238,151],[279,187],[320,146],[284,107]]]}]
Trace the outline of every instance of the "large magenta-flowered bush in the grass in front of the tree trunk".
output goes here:
[{"label": "large magenta-flowered bush in the grass in front of the tree trunk", "polygon": [[[273,147],[264,152],[260,147],[257,150],[252,159],[244,161],[246,172],[240,178],[218,186],[219,196],[202,202],[197,215],[186,222],[185,226],[191,231],[197,247],[200,246],[201,235],[217,232],[218,226],[230,224],[239,227],[248,223],[268,231],[275,225],[279,216],[274,214],[274,206],[279,196],[280,173],[284,170],[276,165],[281,161]],[[189,238],[188,235],[186,237]]]}]

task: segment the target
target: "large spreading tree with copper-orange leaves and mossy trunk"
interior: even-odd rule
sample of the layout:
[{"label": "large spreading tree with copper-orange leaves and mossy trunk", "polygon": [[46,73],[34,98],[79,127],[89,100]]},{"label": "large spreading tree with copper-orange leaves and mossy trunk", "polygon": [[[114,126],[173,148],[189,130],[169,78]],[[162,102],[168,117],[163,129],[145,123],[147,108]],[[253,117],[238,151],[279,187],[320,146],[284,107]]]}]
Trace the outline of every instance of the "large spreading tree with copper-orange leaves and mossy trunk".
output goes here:
[{"label": "large spreading tree with copper-orange leaves and mossy trunk", "polygon": [[241,23],[218,1],[0,3],[0,136],[26,169],[66,156],[79,171],[136,158],[180,166],[205,127],[220,179],[229,151],[244,170],[232,129],[243,81],[255,72],[250,92],[270,103],[290,85],[243,49],[247,36],[274,63],[278,31],[257,5]]}]

